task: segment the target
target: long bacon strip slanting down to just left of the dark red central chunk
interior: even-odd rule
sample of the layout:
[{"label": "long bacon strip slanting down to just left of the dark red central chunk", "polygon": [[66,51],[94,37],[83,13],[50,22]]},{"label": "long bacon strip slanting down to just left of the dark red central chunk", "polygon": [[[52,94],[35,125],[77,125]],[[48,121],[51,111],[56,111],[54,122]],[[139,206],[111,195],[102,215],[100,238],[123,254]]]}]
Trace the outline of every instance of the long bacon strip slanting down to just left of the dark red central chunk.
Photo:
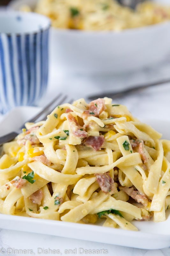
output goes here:
[{"label": "long bacon strip slanting down to just left of the dark red central chunk", "polygon": [[70,123],[70,127],[72,129],[73,137],[79,138],[79,139],[86,138],[87,137],[87,132],[84,131],[84,128],[79,125],[76,118],[73,115],[71,115],[70,113],[68,113],[67,118],[68,118],[68,121]]}]

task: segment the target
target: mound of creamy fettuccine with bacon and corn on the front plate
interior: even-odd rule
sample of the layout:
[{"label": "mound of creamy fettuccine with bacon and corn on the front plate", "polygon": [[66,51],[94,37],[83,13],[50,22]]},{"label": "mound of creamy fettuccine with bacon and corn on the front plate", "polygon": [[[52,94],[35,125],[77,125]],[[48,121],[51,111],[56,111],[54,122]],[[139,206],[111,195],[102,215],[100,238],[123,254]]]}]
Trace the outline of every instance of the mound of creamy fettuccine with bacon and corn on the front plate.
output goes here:
[{"label": "mound of creamy fettuccine with bacon and corn on the front plate", "polygon": [[3,214],[126,230],[166,220],[170,141],[109,98],[57,106],[2,150]]}]

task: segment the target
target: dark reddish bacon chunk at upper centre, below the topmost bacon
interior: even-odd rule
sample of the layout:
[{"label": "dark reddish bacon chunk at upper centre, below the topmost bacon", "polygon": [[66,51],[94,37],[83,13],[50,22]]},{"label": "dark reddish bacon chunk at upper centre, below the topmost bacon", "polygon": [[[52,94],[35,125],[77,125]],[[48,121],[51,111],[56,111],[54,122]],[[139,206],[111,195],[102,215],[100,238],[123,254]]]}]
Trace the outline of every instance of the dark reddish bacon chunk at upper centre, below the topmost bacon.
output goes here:
[{"label": "dark reddish bacon chunk at upper centre, below the topmost bacon", "polygon": [[105,142],[104,136],[88,136],[85,140],[84,143],[87,147],[90,147],[94,149],[95,151],[98,151],[102,148],[103,144]]}]

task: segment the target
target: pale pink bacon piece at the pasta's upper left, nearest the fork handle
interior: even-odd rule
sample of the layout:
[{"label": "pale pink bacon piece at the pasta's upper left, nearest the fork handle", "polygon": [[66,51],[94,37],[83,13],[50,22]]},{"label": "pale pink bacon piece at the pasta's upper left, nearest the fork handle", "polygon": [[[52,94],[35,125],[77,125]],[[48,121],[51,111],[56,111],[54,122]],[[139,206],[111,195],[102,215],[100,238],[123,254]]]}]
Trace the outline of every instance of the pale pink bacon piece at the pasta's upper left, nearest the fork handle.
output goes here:
[{"label": "pale pink bacon piece at the pasta's upper left, nearest the fork handle", "polygon": [[22,139],[18,139],[17,143],[21,146],[26,144],[26,140],[29,140],[31,142],[31,145],[39,144],[40,141],[36,136],[36,132],[38,129],[39,126],[35,126],[27,130],[25,133],[26,135]]}]

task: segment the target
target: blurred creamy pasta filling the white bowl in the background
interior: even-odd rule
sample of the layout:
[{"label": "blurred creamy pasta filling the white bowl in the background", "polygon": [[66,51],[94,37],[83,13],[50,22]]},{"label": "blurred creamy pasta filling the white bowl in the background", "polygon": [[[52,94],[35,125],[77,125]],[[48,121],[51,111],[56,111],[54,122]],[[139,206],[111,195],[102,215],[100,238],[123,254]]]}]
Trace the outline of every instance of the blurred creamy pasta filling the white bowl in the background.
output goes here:
[{"label": "blurred creamy pasta filling the white bowl in the background", "polygon": [[[21,6],[21,10],[31,11],[29,6]],[[170,19],[170,6],[153,1],[132,10],[116,0],[38,0],[33,11],[48,16],[55,28],[82,30],[119,31]]]}]

